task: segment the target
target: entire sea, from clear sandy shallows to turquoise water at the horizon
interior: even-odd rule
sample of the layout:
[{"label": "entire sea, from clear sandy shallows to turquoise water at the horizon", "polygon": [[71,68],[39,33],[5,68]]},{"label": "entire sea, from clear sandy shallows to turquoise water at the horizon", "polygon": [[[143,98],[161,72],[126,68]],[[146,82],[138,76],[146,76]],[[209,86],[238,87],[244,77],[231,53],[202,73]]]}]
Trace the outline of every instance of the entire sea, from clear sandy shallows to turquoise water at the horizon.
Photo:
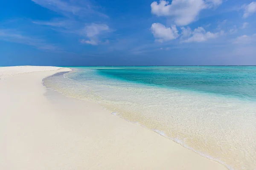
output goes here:
[{"label": "entire sea, from clear sandy shallows to turquoise water at the horizon", "polygon": [[229,169],[256,169],[256,67],[73,69],[45,85],[98,102]]}]

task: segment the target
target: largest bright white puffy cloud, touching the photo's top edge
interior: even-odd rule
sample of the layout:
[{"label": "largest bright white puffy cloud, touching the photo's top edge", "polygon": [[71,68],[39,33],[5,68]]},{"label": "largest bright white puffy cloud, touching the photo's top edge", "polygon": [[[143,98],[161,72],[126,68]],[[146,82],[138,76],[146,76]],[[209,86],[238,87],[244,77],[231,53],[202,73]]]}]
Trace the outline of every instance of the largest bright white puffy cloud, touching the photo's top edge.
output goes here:
[{"label": "largest bright white puffy cloud, touching the photo's top edge", "polygon": [[173,17],[175,24],[186,26],[198,17],[201,10],[217,6],[222,0],[160,0],[151,3],[151,13],[157,16]]}]

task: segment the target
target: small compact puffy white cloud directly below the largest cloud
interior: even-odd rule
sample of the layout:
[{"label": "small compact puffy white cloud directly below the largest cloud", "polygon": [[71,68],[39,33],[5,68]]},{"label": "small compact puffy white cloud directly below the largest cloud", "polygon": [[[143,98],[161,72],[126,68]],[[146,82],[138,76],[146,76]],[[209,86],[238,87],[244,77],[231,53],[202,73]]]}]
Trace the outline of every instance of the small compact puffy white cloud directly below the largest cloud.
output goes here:
[{"label": "small compact puffy white cloud directly below the largest cloud", "polygon": [[179,37],[178,30],[176,26],[172,26],[172,28],[168,28],[160,23],[153,23],[151,26],[152,34],[154,35],[158,42],[164,42],[176,39]]}]

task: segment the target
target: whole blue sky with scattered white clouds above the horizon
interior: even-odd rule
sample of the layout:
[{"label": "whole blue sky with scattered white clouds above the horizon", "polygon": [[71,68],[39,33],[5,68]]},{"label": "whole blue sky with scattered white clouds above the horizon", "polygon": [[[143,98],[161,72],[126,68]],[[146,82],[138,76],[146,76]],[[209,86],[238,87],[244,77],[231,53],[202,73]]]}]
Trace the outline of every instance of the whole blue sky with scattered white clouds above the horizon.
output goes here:
[{"label": "whole blue sky with scattered white clouds above the horizon", "polygon": [[4,0],[0,66],[256,65],[253,0]]}]

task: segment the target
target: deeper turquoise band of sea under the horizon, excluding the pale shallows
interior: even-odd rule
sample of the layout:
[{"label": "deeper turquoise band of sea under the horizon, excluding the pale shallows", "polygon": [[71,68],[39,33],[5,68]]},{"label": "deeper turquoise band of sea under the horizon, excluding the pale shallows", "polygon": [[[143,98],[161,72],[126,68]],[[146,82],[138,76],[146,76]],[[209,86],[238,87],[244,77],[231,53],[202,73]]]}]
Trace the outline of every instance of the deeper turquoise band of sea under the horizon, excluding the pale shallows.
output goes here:
[{"label": "deeper turquoise band of sea under the horizon, excluding the pale shallows", "polygon": [[98,69],[98,73],[147,85],[256,99],[256,67],[124,67]]}]

